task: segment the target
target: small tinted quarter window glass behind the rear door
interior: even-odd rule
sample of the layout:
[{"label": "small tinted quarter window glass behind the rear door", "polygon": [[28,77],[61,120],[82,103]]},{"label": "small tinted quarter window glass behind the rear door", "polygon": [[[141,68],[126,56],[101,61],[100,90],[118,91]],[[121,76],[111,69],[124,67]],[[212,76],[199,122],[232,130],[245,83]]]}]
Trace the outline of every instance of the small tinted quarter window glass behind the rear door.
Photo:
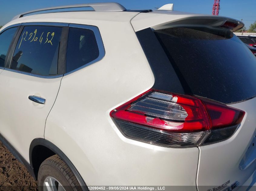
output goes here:
[{"label": "small tinted quarter window glass behind the rear door", "polygon": [[99,56],[94,32],[89,29],[70,28],[66,55],[66,72],[71,72]]}]

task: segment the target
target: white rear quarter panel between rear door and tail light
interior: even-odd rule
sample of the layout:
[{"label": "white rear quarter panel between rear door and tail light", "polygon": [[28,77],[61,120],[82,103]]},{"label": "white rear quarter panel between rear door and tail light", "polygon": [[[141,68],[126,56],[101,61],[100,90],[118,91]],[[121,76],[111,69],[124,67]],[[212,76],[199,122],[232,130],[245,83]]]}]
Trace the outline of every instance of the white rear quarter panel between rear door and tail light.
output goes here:
[{"label": "white rear quarter panel between rear door and tail light", "polygon": [[68,156],[87,185],[196,189],[198,148],[165,148],[131,140],[113,123],[110,111],[150,89],[154,75],[130,21],[94,25],[100,30],[105,57],[63,77],[47,118],[45,139]]}]

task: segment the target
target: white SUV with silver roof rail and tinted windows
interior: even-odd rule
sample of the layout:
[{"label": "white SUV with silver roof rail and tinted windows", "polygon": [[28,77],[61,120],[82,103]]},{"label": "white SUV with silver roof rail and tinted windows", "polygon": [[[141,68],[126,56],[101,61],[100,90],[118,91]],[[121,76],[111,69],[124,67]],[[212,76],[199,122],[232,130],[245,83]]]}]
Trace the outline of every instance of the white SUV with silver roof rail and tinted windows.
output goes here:
[{"label": "white SUV with silver roof rail and tinted windows", "polygon": [[[95,11],[31,15],[76,7]],[[256,58],[232,33],[243,26],[171,4],[18,15],[0,31],[1,140],[40,191],[250,185]]]}]

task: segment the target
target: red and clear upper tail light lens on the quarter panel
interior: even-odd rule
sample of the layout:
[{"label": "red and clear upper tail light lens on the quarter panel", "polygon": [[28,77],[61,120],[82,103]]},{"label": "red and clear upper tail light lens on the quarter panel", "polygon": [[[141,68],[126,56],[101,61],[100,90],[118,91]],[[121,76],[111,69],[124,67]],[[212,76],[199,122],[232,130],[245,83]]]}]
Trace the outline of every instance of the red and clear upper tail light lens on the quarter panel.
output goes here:
[{"label": "red and clear upper tail light lens on the quarter panel", "polygon": [[155,91],[116,108],[111,116],[166,131],[210,129],[210,120],[201,100]]}]

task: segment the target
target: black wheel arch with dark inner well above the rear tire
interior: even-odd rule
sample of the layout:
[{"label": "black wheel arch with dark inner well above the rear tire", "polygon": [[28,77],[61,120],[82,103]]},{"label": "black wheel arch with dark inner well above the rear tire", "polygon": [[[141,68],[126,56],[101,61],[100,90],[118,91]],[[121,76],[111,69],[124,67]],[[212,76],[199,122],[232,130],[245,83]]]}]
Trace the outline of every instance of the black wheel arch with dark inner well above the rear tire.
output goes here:
[{"label": "black wheel arch with dark inner well above the rear tire", "polygon": [[82,187],[83,191],[89,191],[85,181],[82,179],[80,173],[72,164],[72,162],[68,159],[68,157],[52,142],[44,139],[44,138],[35,138],[29,147],[29,161],[30,166],[34,170],[35,177],[37,180],[38,170],[42,162],[53,155],[57,154],[62,161],[64,161],[71,171],[74,173],[76,179]]}]

